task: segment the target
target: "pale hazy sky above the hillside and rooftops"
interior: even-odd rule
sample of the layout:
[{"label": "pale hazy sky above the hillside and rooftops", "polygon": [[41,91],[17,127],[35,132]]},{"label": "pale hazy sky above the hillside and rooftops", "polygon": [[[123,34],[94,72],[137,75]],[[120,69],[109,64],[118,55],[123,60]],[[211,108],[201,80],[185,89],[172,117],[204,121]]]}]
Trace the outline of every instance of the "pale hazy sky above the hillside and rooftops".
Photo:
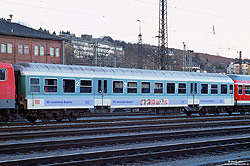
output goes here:
[{"label": "pale hazy sky above the hillside and rooftops", "polygon": [[[250,59],[249,0],[168,0],[168,47]],[[70,31],[158,45],[159,0],[0,0],[0,17],[51,33]]]}]

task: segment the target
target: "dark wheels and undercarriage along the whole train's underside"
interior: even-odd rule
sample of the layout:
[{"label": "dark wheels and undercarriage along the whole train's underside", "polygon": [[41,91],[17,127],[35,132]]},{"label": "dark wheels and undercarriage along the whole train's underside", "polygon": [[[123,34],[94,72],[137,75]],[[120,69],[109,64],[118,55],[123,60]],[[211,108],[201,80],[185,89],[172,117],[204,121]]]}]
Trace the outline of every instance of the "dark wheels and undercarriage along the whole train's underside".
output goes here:
[{"label": "dark wheels and undercarriage along the whole train's underside", "polygon": [[114,113],[154,113],[155,115],[180,115],[186,114],[191,116],[192,114],[199,114],[200,116],[206,116],[213,114],[219,116],[221,113],[232,115],[233,112],[238,112],[241,115],[250,113],[250,107],[247,106],[233,106],[233,107],[173,107],[173,108],[126,108],[126,109],[110,109],[108,107],[97,107],[95,109],[63,109],[63,110],[25,110],[20,109],[5,109],[0,111],[0,121],[21,121],[27,119],[29,122],[35,122],[40,119],[44,123],[50,122],[50,120],[56,120],[57,122],[63,119],[69,121],[76,121],[77,118],[84,117],[86,114],[114,114]]}]

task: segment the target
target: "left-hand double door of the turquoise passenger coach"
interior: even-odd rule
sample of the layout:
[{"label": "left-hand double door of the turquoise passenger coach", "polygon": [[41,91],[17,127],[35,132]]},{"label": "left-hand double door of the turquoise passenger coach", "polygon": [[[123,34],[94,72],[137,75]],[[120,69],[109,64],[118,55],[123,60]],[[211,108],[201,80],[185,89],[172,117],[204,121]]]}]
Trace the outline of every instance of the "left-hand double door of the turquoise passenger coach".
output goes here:
[{"label": "left-hand double door of the turquoise passenger coach", "polygon": [[95,106],[110,106],[110,79],[95,79]]}]

